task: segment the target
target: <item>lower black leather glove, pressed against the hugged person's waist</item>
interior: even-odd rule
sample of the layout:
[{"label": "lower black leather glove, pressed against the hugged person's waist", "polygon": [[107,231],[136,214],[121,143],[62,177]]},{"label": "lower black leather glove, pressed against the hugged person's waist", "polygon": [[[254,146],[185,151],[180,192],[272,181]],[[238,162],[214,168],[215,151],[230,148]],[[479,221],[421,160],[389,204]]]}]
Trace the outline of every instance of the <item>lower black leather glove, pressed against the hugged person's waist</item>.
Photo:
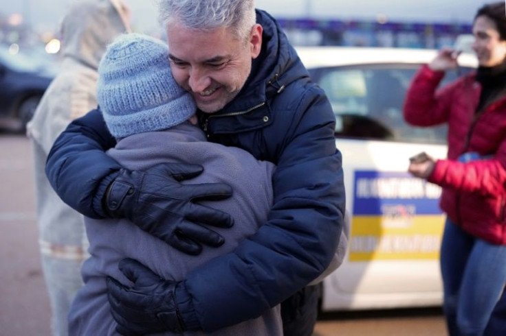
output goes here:
[{"label": "lower black leather glove, pressed against the hugged person's waist", "polygon": [[133,259],[123,259],[121,272],[134,284],[126,287],[107,277],[107,298],[122,335],[146,335],[172,331],[183,333],[184,322],[175,302],[177,283],[160,278]]}]

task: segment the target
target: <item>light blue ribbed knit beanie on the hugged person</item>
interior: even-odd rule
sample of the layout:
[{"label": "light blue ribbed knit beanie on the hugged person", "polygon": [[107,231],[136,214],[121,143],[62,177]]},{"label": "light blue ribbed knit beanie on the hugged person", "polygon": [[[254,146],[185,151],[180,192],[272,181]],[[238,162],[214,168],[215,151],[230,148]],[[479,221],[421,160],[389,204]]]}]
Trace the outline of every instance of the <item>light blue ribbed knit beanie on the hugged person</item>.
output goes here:
[{"label": "light blue ribbed knit beanie on the hugged person", "polygon": [[151,36],[116,38],[100,60],[98,75],[98,105],[116,138],[170,128],[197,110],[170,72],[167,45]]}]

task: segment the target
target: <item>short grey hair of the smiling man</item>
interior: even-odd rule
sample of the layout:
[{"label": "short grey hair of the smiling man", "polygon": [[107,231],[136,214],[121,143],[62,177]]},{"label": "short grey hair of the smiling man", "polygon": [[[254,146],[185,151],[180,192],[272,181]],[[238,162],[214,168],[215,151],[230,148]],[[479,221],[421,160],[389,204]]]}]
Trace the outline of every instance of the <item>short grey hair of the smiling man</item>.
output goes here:
[{"label": "short grey hair of the smiling man", "polygon": [[179,22],[206,32],[232,28],[237,38],[247,39],[256,23],[254,0],[158,0],[158,10],[163,27]]}]

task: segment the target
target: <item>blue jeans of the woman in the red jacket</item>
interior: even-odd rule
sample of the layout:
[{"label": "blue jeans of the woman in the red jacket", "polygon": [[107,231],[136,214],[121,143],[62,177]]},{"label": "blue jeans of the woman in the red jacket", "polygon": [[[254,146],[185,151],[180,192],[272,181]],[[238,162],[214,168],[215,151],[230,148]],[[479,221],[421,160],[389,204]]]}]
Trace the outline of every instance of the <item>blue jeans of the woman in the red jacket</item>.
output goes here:
[{"label": "blue jeans of the woman in the red jacket", "polygon": [[484,335],[505,286],[506,246],[468,235],[447,219],[441,275],[450,336]]}]

